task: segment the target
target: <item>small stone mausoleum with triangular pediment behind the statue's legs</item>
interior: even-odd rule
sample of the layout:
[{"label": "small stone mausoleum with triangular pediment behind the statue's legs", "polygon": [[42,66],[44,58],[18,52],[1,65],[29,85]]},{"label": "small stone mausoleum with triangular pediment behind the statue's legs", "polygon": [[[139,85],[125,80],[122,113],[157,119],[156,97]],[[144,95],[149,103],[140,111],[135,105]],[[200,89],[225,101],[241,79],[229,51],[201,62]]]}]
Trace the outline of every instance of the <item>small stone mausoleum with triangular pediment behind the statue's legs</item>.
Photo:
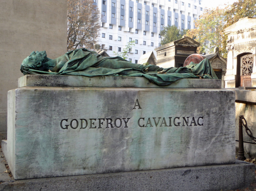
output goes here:
[{"label": "small stone mausoleum with triangular pediment behind the statue's legs", "polygon": [[177,41],[165,44],[155,49],[157,60],[156,65],[162,68],[181,67],[187,57],[196,53],[200,43],[192,38],[183,37]]}]

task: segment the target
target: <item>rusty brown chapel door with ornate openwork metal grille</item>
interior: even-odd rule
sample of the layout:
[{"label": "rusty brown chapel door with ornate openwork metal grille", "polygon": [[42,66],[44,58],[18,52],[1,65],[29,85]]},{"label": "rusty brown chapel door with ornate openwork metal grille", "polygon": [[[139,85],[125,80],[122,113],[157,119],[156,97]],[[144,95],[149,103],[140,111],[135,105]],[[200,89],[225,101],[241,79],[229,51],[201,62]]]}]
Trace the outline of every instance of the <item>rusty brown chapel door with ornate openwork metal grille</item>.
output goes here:
[{"label": "rusty brown chapel door with ornate openwork metal grille", "polygon": [[241,57],[241,70],[240,70],[240,86],[251,87],[251,73],[254,63],[252,54],[247,54]]}]

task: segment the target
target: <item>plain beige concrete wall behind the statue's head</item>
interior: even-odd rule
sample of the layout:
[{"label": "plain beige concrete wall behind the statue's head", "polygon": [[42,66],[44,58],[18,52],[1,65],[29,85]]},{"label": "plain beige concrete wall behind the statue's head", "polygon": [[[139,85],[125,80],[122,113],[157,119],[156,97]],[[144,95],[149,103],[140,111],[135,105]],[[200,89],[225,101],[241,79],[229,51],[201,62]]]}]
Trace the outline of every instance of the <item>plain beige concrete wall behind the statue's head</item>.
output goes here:
[{"label": "plain beige concrete wall behind the statue's head", "polygon": [[7,131],[7,91],[18,87],[22,60],[46,50],[56,58],[67,50],[67,0],[1,0],[0,138]]}]

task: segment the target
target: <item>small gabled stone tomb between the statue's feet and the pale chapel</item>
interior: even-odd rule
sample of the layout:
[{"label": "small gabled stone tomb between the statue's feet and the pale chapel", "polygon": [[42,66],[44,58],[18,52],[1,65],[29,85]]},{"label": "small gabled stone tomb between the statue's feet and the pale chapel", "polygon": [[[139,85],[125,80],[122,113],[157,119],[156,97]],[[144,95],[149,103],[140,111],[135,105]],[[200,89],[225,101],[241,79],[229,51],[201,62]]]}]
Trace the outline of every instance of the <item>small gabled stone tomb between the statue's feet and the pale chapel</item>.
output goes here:
[{"label": "small gabled stone tomb between the statue's feet and the pale chapel", "polygon": [[211,63],[215,74],[221,80],[221,87],[225,87],[224,76],[227,70],[227,60],[219,53],[219,48],[215,47],[214,53],[204,55]]}]

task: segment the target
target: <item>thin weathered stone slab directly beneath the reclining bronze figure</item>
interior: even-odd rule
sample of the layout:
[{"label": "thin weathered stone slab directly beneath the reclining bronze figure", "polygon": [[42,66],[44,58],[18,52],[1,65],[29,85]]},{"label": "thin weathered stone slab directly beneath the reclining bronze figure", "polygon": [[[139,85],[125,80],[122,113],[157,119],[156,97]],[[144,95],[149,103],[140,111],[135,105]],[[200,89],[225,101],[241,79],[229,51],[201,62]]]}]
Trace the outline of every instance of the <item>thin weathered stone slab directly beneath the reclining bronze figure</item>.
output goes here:
[{"label": "thin weathered stone slab directly beneath the reclining bronze figure", "polygon": [[97,76],[88,78],[74,75],[25,75],[18,87],[134,87],[134,88],[221,88],[221,80],[180,79],[168,86],[157,86],[142,77]]}]

